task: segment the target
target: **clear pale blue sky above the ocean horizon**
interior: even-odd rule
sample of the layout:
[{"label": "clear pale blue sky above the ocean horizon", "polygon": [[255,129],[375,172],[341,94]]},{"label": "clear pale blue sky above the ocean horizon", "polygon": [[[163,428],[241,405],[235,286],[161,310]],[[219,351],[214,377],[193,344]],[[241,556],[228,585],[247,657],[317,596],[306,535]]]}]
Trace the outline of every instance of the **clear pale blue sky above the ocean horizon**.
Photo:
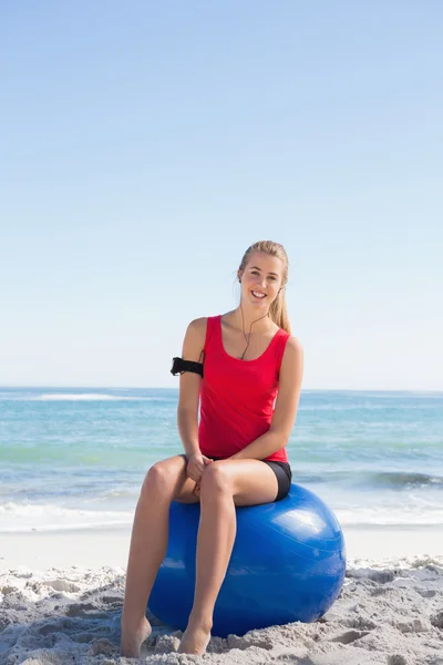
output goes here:
[{"label": "clear pale blue sky above the ocean horizon", "polygon": [[0,385],[173,387],[282,243],[303,387],[443,390],[440,0],[0,4]]}]

